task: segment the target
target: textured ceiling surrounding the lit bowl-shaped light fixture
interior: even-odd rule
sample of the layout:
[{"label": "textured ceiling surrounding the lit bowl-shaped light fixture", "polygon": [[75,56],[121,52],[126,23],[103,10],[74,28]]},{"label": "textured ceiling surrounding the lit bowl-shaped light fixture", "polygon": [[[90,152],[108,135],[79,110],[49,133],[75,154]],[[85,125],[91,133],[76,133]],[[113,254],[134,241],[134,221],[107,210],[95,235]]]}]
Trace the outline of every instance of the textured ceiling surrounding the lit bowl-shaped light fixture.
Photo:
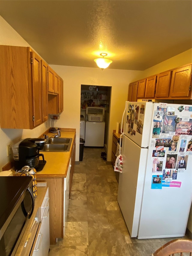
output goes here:
[{"label": "textured ceiling surrounding the lit bowl-shaped light fixture", "polygon": [[145,70],[192,47],[191,0],[0,1],[0,15],[51,65]]}]

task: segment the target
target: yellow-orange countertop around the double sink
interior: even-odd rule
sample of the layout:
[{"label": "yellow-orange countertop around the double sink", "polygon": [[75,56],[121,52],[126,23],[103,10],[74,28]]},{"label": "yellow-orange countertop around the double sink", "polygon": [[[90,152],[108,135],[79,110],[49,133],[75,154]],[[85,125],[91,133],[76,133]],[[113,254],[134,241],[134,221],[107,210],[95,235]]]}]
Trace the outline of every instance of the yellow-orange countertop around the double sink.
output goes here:
[{"label": "yellow-orange countertop around the double sink", "polygon": [[[54,137],[56,133],[48,132],[46,135]],[[43,170],[36,173],[37,178],[62,177],[66,178],[70,156],[75,139],[75,131],[65,131],[61,129],[61,138],[72,138],[69,152],[39,152],[43,153],[46,164]]]}]

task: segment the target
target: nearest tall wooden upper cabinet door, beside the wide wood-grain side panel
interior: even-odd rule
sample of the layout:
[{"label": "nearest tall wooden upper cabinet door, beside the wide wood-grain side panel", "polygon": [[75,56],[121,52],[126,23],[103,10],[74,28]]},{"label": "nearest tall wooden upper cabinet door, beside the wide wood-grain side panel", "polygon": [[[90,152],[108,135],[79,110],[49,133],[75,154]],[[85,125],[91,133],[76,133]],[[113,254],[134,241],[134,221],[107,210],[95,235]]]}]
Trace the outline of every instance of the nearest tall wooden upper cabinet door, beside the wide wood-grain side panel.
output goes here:
[{"label": "nearest tall wooden upper cabinet door, beside the wide wood-grain side panel", "polygon": [[32,98],[34,127],[43,122],[42,119],[42,92],[41,92],[41,59],[31,52],[32,57]]}]

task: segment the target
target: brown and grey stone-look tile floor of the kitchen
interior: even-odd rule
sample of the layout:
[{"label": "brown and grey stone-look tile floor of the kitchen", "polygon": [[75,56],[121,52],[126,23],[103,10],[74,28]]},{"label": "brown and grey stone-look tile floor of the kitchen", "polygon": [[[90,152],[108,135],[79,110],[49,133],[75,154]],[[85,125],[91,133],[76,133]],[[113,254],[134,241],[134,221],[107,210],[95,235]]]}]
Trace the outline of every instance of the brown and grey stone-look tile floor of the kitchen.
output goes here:
[{"label": "brown and grey stone-look tile floor of the kitchen", "polygon": [[103,151],[84,148],[83,161],[75,165],[65,236],[50,245],[48,256],[150,256],[175,239],[130,237],[117,202],[115,172],[101,158]]}]

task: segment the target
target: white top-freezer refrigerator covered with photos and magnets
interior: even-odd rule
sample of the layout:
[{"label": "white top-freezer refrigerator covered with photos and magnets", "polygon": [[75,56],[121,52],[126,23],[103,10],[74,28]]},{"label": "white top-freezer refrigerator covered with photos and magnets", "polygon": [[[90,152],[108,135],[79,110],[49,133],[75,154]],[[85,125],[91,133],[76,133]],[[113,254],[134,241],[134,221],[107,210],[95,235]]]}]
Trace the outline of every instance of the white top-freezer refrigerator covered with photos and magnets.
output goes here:
[{"label": "white top-freezer refrigerator covered with photos and magnets", "polygon": [[131,237],[184,236],[192,198],[192,106],[128,102],[118,203]]}]

